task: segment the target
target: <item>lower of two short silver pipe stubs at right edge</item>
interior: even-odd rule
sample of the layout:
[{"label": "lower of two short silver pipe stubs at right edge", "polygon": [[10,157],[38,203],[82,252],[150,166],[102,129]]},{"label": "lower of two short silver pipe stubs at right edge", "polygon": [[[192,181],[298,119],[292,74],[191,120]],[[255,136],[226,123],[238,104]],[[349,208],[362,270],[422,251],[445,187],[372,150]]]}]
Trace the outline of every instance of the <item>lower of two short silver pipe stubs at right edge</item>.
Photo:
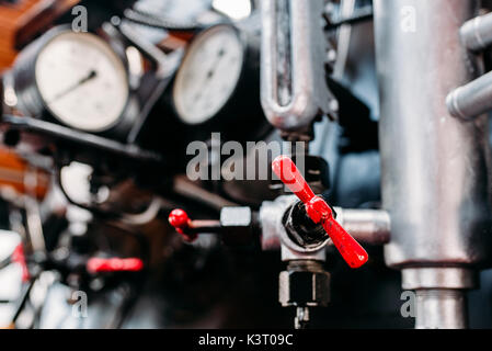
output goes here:
[{"label": "lower of two short silver pipe stubs at right edge", "polygon": [[449,113],[472,120],[492,110],[492,72],[451,91],[446,98]]}]

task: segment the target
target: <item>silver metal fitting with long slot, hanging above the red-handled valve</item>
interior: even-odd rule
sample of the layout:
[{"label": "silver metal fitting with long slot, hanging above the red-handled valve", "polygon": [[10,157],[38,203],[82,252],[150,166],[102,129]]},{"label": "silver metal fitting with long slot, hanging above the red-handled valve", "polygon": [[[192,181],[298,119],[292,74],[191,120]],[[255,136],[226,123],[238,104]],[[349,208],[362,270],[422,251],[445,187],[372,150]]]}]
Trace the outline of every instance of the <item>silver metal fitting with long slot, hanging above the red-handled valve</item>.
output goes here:
[{"label": "silver metal fitting with long slot, hanging above the red-handled valve", "polygon": [[324,78],[322,13],[323,0],[261,1],[261,101],[278,129],[298,131],[337,112]]}]

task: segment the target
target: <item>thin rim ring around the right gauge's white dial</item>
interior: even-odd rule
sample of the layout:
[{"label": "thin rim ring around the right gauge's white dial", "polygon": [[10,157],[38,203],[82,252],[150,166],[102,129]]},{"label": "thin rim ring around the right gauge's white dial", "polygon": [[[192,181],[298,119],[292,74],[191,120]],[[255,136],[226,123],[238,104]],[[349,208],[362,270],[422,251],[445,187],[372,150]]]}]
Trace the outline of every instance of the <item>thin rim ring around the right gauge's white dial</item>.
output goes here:
[{"label": "thin rim ring around the right gauge's white dial", "polygon": [[[183,117],[182,111],[180,111],[178,107],[179,104],[176,103],[176,94],[179,92],[178,92],[178,83],[176,82],[179,81],[180,76],[183,75],[184,70],[186,69],[185,64],[190,59],[191,55],[193,54],[193,48],[194,48],[193,46],[197,45],[198,43],[203,43],[204,38],[206,38],[209,35],[214,35],[213,34],[214,32],[220,31],[224,29],[231,31],[236,35],[236,37],[241,46],[241,49],[242,49],[241,68],[240,68],[239,75],[238,75],[238,79],[236,81],[236,86],[229,92],[226,102],[211,116],[209,116],[208,118],[206,118],[205,121],[199,122],[199,123],[191,123],[187,121],[187,118]],[[240,88],[240,82],[243,79],[244,71],[245,71],[247,59],[248,59],[248,41],[245,39],[243,33],[234,25],[229,24],[229,23],[220,23],[220,24],[209,26],[206,30],[204,30],[203,32],[198,33],[193,38],[192,43],[190,44],[188,48],[186,49],[186,53],[183,57],[182,65],[176,72],[176,76],[175,76],[174,82],[173,82],[173,87],[172,87],[171,104],[172,104],[173,112],[178,116],[179,121],[188,126],[204,126],[204,125],[214,123],[214,121],[217,121],[218,118],[220,118],[220,116],[224,114],[224,111],[226,111],[229,107],[231,100],[233,100],[233,97],[237,94],[237,92]]]}]

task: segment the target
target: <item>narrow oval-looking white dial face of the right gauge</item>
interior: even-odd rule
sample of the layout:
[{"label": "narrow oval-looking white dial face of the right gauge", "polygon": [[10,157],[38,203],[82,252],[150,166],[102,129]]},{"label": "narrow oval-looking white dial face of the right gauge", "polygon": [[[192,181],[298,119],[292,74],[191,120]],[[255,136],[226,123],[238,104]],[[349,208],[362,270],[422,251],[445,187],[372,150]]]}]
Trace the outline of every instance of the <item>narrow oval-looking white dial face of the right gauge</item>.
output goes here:
[{"label": "narrow oval-looking white dial face of the right gauge", "polygon": [[218,25],[192,44],[178,72],[173,102],[186,124],[213,118],[229,101],[241,76],[244,46],[237,31]]}]

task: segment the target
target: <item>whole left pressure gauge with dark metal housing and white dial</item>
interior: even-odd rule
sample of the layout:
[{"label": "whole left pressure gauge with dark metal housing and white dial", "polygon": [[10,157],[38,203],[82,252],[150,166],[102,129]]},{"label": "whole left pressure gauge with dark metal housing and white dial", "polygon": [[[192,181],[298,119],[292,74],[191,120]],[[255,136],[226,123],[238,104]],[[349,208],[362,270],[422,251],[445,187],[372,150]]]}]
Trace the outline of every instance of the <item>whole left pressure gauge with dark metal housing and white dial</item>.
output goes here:
[{"label": "whole left pressure gauge with dark metal housing and white dial", "polygon": [[115,127],[128,105],[126,63],[91,33],[47,32],[21,53],[13,79],[19,110],[83,132]]}]

